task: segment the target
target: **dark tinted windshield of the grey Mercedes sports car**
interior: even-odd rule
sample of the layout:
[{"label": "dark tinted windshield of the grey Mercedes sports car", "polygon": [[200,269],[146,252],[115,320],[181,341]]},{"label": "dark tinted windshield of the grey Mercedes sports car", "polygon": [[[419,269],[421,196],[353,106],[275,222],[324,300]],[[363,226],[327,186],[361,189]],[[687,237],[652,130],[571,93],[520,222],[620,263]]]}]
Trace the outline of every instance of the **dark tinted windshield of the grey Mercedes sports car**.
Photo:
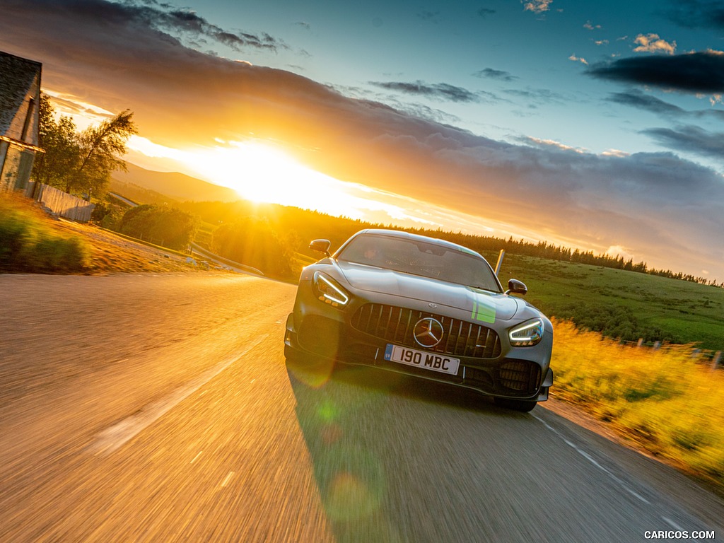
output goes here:
[{"label": "dark tinted windshield of the grey Mercedes sports car", "polygon": [[502,292],[483,258],[437,243],[385,235],[359,235],[342,248],[337,259]]}]

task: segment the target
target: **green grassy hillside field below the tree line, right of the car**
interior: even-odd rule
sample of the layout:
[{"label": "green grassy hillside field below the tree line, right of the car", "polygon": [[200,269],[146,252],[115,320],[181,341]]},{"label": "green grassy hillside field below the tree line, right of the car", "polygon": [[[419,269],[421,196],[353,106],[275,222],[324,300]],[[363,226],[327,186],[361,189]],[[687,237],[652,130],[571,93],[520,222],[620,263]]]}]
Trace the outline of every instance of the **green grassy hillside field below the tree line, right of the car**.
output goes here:
[{"label": "green grassy hillside field below the tree line, right of the car", "polygon": [[579,327],[627,341],[643,338],[724,350],[724,288],[506,255],[500,271],[503,285],[511,277],[526,283],[530,303]]}]

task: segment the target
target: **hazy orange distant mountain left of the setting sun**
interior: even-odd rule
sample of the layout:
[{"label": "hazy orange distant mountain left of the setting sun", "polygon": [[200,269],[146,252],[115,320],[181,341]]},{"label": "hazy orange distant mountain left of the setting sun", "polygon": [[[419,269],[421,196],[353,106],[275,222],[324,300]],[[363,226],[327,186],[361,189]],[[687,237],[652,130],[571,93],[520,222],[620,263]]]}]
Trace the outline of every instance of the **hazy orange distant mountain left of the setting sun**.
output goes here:
[{"label": "hazy orange distant mountain left of the setting sun", "polygon": [[127,172],[113,172],[111,180],[123,185],[138,185],[154,193],[167,195],[178,201],[235,202],[240,195],[235,190],[177,172],[152,172],[135,164],[126,163]]}]

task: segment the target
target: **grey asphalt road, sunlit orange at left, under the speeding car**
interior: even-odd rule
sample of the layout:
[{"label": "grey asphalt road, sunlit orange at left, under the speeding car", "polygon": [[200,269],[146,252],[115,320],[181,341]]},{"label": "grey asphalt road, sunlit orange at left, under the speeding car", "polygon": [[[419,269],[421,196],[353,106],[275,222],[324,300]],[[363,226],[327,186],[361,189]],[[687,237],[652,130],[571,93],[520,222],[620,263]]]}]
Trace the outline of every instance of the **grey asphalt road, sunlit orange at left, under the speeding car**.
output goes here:
[{"label": "grey asphalt road, sunlit orange at left, under the speeding car", "polygon": [[294,292],[0,275],[0,542],[724,541],[721,500],[542,406],[290,366]]}]

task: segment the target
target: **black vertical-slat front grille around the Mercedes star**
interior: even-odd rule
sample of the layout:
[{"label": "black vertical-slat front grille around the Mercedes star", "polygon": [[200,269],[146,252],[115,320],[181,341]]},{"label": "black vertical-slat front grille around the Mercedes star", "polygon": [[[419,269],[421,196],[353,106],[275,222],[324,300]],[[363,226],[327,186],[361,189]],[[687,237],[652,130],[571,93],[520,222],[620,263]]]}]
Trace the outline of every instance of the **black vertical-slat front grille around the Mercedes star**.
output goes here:
[{"label": "black vertical-slat front grille around the Mercedes star", "polygon": [[413,329],[424,317],[437,319],[445,330],[442,341],[428,350],[471,358],[500,356],[500,338],[493,329],[426,311],[366,303],[355,311],[352,326],[382,340],[418,349],[420,346],[413,337]]}]

